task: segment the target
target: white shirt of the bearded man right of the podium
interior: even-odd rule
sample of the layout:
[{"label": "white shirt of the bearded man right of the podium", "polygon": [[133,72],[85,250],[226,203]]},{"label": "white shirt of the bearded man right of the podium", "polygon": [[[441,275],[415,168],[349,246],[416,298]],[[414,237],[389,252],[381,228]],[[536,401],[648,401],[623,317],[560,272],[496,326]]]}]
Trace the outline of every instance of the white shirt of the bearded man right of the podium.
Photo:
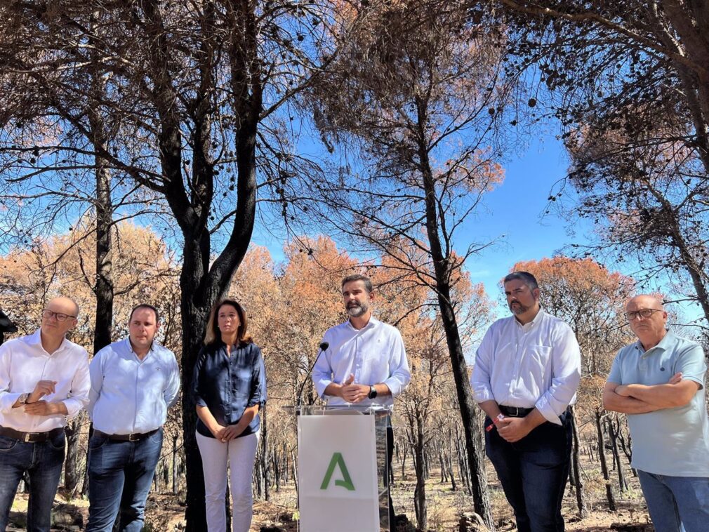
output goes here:
[{"label": "white shirt of the bearded man right of the podium", "polygon": [[525,325],[509,316],[490,326],[470,382],[479,403],[536,406],[547,421],[560,425],[559,416],[576,400],[580,380],[581,350],[574,331],[540,310]]}]

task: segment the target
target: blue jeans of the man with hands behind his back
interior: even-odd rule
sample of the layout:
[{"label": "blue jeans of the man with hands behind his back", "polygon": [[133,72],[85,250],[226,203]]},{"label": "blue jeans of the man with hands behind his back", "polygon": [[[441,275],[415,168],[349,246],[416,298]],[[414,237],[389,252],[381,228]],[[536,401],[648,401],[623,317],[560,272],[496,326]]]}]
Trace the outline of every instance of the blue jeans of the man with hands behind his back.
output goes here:
[{"label": "blue jeans of the man with hands behind his back", "polygon": [[[140,532],[145,501],[162,449],[162,428],[139,441],[89,438],[89,523],[86,532]],[[119,515],[120,512],[120,515]]]}]

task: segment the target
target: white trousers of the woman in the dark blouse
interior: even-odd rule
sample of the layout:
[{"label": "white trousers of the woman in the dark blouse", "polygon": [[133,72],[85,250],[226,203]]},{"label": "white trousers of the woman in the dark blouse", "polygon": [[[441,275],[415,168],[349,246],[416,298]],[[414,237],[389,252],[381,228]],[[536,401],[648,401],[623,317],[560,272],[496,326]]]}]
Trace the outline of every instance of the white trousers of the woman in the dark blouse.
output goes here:
[{"label": "white trousers of the woman in the dark blouse", "polygon": [[202,456],[204,493],[208,532],[226,531],[226,471],[231,472],[232,532],[249,532],[253,514],[251,478],[254,470],[259,434],[249,434],[221,443],[197,433]]}]

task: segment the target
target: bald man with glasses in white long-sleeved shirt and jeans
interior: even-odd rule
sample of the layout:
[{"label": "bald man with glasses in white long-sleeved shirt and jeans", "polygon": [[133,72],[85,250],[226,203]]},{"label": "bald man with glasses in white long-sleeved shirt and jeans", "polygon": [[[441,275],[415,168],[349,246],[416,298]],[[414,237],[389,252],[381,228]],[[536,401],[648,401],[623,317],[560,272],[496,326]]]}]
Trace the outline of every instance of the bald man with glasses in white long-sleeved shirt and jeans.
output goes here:
[{"label": "bald man with glasses in white long-sleeved shirt and jeans", "polygon": [[0,531],[18,484],[30,480],[27,529],[48,531],[65,455],[64,427],[89,402],[89,357],[67,340],[79,306],[52,299],[42,326],[0,346]]}]

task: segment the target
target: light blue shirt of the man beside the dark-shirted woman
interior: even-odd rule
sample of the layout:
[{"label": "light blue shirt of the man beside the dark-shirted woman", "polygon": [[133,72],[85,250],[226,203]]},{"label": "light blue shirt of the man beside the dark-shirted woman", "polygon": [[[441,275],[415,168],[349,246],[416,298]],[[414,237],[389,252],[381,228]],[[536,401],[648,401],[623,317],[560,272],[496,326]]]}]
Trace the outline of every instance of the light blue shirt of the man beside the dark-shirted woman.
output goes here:
[{"label": "light blue shirt of the man beside the dark-shirted woman", "polygon": [[107,434],[146,433],[160,428],[177,402],[179,368],[172,351],[157,342],[140,360],[130,340],[106,345],[89,367],[89,416]]}]

